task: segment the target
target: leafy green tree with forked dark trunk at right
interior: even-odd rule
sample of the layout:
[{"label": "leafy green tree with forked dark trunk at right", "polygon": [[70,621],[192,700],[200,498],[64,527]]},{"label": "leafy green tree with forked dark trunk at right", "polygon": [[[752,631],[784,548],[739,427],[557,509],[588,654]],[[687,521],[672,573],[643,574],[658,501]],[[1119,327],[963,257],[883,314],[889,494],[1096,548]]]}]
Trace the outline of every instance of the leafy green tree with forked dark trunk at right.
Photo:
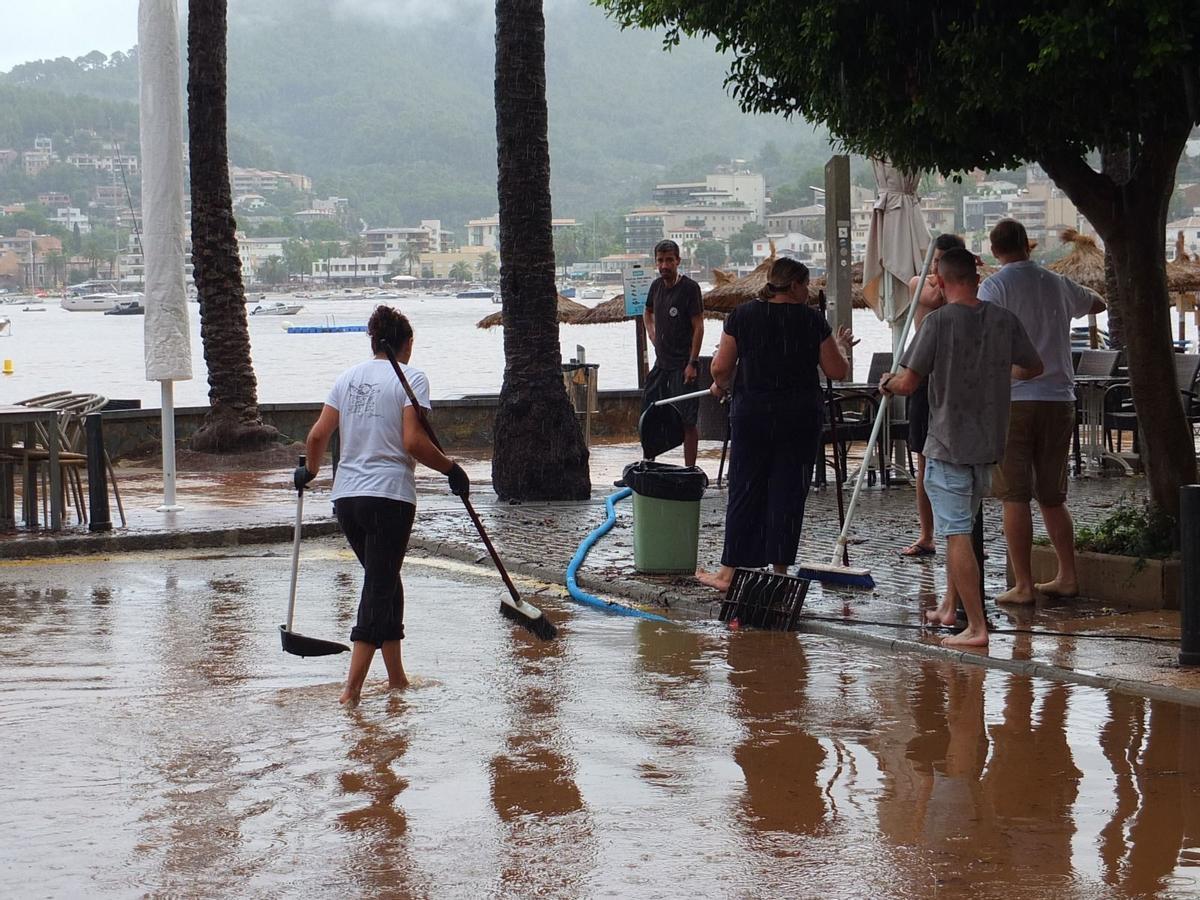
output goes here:
[{"label": "leafy green tree with forked dark trunk at right", "polygon": [[1038,161],[1105,242],[1151,496],[1177,509],[1196,463],[1174,389],[1163,233],[1200,121],[1200,4],[810,0],[780,16],[766,0],[600,2],[623,24],[665,28],[667,43],[715,38],[744,109],[823,122],[851,151],[947,174]]}]

